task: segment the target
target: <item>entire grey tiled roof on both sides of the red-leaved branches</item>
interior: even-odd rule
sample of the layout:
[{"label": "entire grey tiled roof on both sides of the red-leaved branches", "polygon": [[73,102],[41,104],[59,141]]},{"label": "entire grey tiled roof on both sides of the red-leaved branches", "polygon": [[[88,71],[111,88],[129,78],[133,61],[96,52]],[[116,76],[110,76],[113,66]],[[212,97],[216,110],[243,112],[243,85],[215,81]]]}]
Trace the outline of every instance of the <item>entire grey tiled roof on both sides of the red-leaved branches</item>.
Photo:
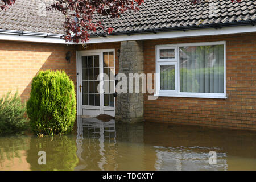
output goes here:
[{"label": "entire grey tiled roof on both sides of the red-leaved branches", "polygon": [[[44,0],[49,5],[52,0]],[[0,11],[0,29],[63,34],[64,16],[47,11],[40,16],[43,0],[16,0],[15,5]],[[114,28],[112,34],[160,30],[183,30],[237,26],[256,22],[256,1],[204,0],[193,5],[189,0],[144,0],[139,11],[127,11],[119,19],[105,16],[102,23]],[[98,31],[97,33],[102,33]]]}]

